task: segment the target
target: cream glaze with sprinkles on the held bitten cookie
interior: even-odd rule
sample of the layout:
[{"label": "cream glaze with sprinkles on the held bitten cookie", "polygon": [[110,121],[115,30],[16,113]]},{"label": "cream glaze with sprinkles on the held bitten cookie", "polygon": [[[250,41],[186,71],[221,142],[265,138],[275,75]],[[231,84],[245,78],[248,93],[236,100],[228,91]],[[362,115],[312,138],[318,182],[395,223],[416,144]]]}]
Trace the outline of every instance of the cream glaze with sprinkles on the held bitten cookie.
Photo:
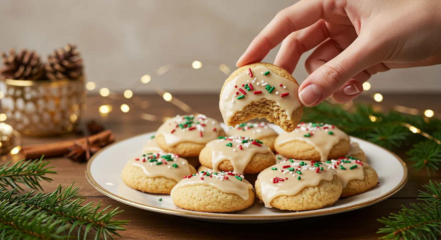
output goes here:
[{"label": "cream glaze with sprinkles on the held bitten cookie", "polygon": [[[253,77],[250,77],[249,71],[245,70],[229,81],[222,89],[219,108],[221,109],[225,124],[229,126],[228,122],[230,122],[232,116],[236,112],[242,111],[251,102],[258,102],[263,99],[277,103],[286,112],[288,119],[291,119],[294,110],[302,106],[297,95],[299,85],[273,73],[266,66],[256,66],[251,69],[251,72]],[[269,72],[269,74],[262,74],[266,72]],[[242,86],[245,84],[247,84],[248,88]],[[274,87],[274,89],[270,90],[271,88],[267,87],[267,85],[270,85],[271,88]],[[257,93],[259,91],[262,93],[254,94],[254,92]]]}]

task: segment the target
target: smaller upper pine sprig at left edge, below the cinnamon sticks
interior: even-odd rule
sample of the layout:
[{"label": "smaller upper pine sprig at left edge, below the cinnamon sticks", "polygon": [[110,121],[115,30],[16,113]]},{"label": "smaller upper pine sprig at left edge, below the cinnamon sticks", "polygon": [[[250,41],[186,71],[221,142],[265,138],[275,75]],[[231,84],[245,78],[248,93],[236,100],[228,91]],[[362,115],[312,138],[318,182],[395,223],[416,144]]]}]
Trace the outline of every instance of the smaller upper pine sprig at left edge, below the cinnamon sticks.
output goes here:
[{"label": "smaller upper pine sprig at left edge, below the cinnamon sticks", "polygon": [[0,188],[12,187],[19,188],[24,191],[19,184],[24,184],[30,189],[41,189],[40,181],[52,181],[52,178],[45,177],[45,174],[56,174],[55,171],[50,169],[54,166],[47,167],[50,161],[42,161],[43,157],[39,160],[24,159],[8,166],[7,162],[0,164]]}]

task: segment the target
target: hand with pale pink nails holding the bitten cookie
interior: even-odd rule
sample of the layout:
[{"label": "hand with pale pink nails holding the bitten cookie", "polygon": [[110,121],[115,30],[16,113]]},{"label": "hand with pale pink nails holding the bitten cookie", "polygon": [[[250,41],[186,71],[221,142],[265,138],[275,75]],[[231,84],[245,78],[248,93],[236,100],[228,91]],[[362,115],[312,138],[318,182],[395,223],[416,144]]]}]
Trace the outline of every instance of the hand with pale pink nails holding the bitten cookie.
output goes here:
[{"label": "hand with pale pink nails holding the bitten cookie", "polygon": [[301,0],[280,11],[236,65],[262,61],[281,41],[274,64],[291,74],[317,47],[305,63],[303,105],[329,96],[347,103],[377,72],[441,63],[441,1]]}]

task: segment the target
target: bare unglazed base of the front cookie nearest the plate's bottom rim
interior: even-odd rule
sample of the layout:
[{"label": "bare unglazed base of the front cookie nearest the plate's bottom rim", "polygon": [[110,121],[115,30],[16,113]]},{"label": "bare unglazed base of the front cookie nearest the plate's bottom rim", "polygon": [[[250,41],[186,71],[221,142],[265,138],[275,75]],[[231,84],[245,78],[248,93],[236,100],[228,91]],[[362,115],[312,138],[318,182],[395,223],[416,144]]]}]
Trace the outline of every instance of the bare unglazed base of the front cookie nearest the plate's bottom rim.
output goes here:
[{"label": "bare unglazed base of the front cookie nearest the plate's bottom rim", "polygon": [[183,209],[224,213],[234,212],[250,207],[254,203],[254,192],[248,190],[249,198],[241,199],[236,194],[224,193],[210,186],[188,186],[173,192],[173,203]]}]

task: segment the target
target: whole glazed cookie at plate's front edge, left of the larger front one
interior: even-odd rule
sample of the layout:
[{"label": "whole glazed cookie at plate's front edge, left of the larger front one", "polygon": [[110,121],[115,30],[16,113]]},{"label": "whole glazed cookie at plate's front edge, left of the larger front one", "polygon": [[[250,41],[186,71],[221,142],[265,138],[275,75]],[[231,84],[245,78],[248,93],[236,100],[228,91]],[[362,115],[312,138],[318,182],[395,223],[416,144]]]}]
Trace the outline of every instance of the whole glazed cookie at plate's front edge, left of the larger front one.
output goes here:
[{"label": "whole glazed cookie at plate's front edge, left of the larger front one", "polygon": [[224,213],[254,203],[253,186],[241,174],[201,171],[184,177],[171,193],[176,206],[194,211]]}]

